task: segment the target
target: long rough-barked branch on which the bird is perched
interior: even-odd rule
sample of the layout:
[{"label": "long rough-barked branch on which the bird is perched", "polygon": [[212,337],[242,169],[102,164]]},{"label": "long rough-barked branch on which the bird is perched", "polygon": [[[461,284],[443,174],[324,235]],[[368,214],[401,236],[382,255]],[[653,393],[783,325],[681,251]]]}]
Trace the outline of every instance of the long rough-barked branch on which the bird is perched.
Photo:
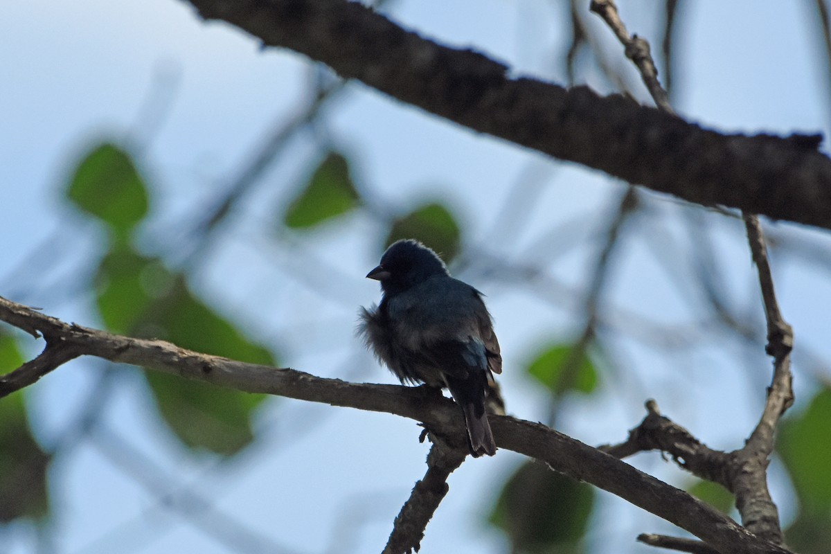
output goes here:
[{"label": "long rough-barked branch on which the bird is perched", "polygon": [[[0,297],[0,321],[32,336],[52,337],[55,348],[72,357],[92,355],[119,363],[141,365],[181,377],[203,380],[252,393],[280,395],[416,419],[431,431],[465,437],[465,424],[452,400],[424,387],[367,385],[324,379],[292,369],[246,364],[200,354],[170,342],[136,339],[65,323]],[[25,366],[24,366],[25,367]],[[12,371],[0,378],[0,396],[19,390]],[[45,370],[54,370],[44,365]],[[34,380],[28,380],[34,382]],[[592,483],[656,516],[691,532],[722,554],[788,554],[788,550],[748,532],[730,517],[691,495],[633,468],[607,453],[542,424],[494,415],[490,419],[499,448],[547,463],[572,478]]]}]

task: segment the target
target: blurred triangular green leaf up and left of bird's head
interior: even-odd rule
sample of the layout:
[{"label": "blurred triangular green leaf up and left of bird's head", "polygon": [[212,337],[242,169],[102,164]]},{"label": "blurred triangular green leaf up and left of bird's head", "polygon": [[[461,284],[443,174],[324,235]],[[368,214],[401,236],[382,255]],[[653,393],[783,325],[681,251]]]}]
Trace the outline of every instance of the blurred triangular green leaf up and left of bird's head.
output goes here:
[{"label": "blurred triangular green leaf up and left of bird's head", "polygon": [[288,206],[283,223],[289,228],[310,228],[347,213],[358,202],[349,162],[342,154],[330,152]]}]

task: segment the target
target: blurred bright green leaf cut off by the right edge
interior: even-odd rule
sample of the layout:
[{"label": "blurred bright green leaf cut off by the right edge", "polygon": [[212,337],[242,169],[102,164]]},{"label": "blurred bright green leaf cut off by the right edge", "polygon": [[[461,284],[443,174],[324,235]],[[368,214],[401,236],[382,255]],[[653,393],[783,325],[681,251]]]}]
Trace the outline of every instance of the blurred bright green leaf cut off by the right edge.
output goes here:
[{"label": "blurred bright green leaf cut off by the right edge", "polygon": [[[808,409],[786,419],[779,431],[777,449],[794,482],[799,503],[805,510],[831,509],[831,389],[824,388]],[[827,522],[831,525],[831,521]]]}]

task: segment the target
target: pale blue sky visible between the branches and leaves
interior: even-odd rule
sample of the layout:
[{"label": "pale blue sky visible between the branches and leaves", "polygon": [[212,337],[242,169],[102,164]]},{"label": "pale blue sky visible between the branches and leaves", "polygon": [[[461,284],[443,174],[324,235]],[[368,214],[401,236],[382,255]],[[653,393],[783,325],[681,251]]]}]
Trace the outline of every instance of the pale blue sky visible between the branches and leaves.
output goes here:
[{"label": "pale blue sky visible between the branches and leaves", "polygon": [[[656,51],[657,3],[620,3],[627,27],[647,37]],[[401,0],[392,13],[427,37],[505,61],[514,74],[563,84],[558,60],[568,45],[566,4]],[[678,42],[676,110],[729,132],[828,134],[829,78],[810,6],[689,2]],[[200,21],[178,0],[6,0],[2,12],[0,187],[6,209],[0,218],[0,296],[97,326],[89,293],[76,282],[91,271],[104,237],[61,199],[77,156],[98,140],[134,146],[155,199],[142,242],[175,259],[179,224],[193,221],[243,169],[275,121],[305,104],[313,70],[302,56],[263,50],[228,25]],[[587,20],[601,26],[593,17]],[[612,61],[626,66],[612,37],[606,37]],[[646,102],[637,76],[626,71]],[[597,71],[583,71],[580,81],[610,92]],[[541,237],[554,220],[582,219],[586,224],[573,240],[587,242],[624,191],[602,174],[475,135],[360,84],[348,86],[327,107],[327,116],[329,140],[354,156],[357,179],[385,205],[406,209],[422,199],[443,199],[459,211],[470,244],[496,256],[518,261],[547,256],[535,245],[551,243]],[[295,140],[285,159],[269,170],[258,194],[239,208],[241,222],[210,253],[192,285],[219,311],[245,321],[251,335],[273,346],[286,365],[315,375],[394,382],[361,351],[353,334],[358,306],[379,298],[376,283],[363,276],[376,265],[383,225],[353,218],[345,231],[324,229],[297,238],[288,250],[274,248],[262,233],[297,190],[307,161],[318,154],[311,139]],[[529,172],[541,176],[540,185],[526,190],[536,195],[534,206],[524,228],[504,232],[500,208],[523,190],[517,183]],[[655,213],[686,209],[671,199],[651,198]],[[693,240],[685,228],[662,227],[657,217],[644,225],[666,233],[666,248]],[[829,244],[825,233],[786,224],[777,228]],[[758,294],[740,226],[714,219],[711,230],[728,290],[740,306],[753,306]],[[613,299],[623,314],[641,311],[670,325],[689,310],[676,281],[690,276],[683,267],[662,269],[650,248],[637,240],[622,248]],[[552,272],[559,282],[580,287],[592,254],[591,248],[564,252]],[[827,359],[831,281],[810,263],[776,262],[774,257],[778,292],[798,345]],[[563,308],[568,302],[550,306],[523,287],[489,281],[475,267],[462,277],[488,295],[506,360],[509,411],[543,419],[542,392],[509,369],[523,365],[534,345],[578,326],[573,310]],[[625,365],[637,366],[637,373],[612,374],[597,398],[569,400],[560,428],[588,444],[623,439],[642,418],[643,400],[660,394],[661,407],[708,444],[735,448],[763,398],[770,364],[761,351],[760,346],[755,358],[755,370],[761,371],[753,374],[744,366],[736,369],[745,364],[744,357],[736,360],[746,352],[731,346],[693,351],[667,368],[661,355],[624,343],[619,352],[628,354]],[[795,368],[797,394],[808,395],[800,369],[807,372],[799,364]],[[192,457],[159,431],[152,400],[135,372],[89,361],[67,364],[32,387],[32,422],[44,444],[57,439],[99,371],[116,373],[106,409],[108,430],[54,470],[52,498],[59,517],[52,529],[53,552],[232,552],[227,542],[245,545],[244,552],[380,552],[392,518],[425,471],[426,446],[418,444],[414,422],[286,400],[263,410],[257,421],[260,440],[238,457],[224,463]],[[714,380],[719,390],[711,390]],[[702,408],[707,405],[715,408]],[[125,450],[116,445],[124,440],[135,452],[119,460]],[[142,458],[144,467],[160,468],[148,478],[153,483],[140,484],[140,476],[127,474],[125,468]],[[422,552],[504,552],[504,539],[479,516],[521,461],[500,451],[465,463],[450,479],[450,494],[427,527]],[[638,456],[634,463],[684,483],[656,455]],[[142,464],[134,465],[141,473]],[[788,498],[789,483],[775,462],[773,473],[774,497]],[[210,507],[194,522],[166,510],[148,487],[191,487]],[[626,510],[619,499],[602,497],[590,544],[629,544],[639,532],[671,532],[654,517]],[[212,510],[232,517],[217,517]],[[784,502],[782,512],[787,521],[793,507]],[[12,526],[0,536],[10,539],[3,552],[30,552],[31,527]],[[632,546],[630,552],[646,548]]]}]

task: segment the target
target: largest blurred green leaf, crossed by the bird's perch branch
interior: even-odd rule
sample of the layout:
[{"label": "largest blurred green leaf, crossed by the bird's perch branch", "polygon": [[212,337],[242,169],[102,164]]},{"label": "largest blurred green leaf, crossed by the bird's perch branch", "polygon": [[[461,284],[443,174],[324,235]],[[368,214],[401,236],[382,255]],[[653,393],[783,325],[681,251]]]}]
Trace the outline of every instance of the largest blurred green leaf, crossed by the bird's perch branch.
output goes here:
[{"label": "largest blurred green leaf, crossed by the bird's perch branch", "polygon": [[[116,244],[98,269],[98,307],[111,331],[160,338],[234,360],[273,365],[271,353],[248,341],[190,292],[184,277],[159,260]],[[162,418],[189,448],[230,455],[253,439],[253,411],[266,398],[158,371],[145,372]]]}]

